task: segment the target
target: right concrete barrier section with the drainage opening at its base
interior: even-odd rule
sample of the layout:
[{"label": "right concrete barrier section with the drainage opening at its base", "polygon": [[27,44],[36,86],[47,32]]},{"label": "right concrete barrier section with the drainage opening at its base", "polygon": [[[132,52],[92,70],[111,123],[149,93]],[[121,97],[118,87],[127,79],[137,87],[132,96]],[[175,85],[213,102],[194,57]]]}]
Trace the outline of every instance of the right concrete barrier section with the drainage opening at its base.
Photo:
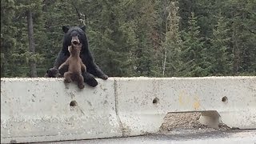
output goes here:
[{"label": "right concrete barrier section with the drainage opening at its base", "polygon": [[167,112],[182,111],[216,110],[227,126],[256,128],[256,77],[116,78],[115,86],[124,135],[156,133]]}]

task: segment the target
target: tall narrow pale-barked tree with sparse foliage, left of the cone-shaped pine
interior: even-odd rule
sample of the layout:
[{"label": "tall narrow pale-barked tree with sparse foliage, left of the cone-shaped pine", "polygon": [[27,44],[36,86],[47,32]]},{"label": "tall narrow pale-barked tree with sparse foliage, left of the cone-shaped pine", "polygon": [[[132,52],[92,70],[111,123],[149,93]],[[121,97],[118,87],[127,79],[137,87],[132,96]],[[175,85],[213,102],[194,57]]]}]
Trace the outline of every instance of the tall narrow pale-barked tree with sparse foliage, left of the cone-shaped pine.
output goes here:
[{"label": "tall narrow pale-barked tree with sparse foliage, left of the cone-shaped pine", "polygon": [[181,66],[182,39],[179,31],[178,2],[170,2],[166,10],[166,38],[162,44],[164,50],[162,75],[171,77],[178,75]]}]

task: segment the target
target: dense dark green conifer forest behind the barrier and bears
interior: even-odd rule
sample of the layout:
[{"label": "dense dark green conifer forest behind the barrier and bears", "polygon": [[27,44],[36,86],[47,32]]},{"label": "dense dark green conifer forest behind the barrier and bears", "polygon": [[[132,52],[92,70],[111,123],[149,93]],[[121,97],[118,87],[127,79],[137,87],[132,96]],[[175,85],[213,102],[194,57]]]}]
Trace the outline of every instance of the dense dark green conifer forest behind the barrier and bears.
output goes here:
[{"label": "dense dark green conifer forest behind the barrier and bears", "polygon": [[255,0],[1,0],[1,77],[42,77],[63,25],[109,76],[256,75],[255,23]]}]

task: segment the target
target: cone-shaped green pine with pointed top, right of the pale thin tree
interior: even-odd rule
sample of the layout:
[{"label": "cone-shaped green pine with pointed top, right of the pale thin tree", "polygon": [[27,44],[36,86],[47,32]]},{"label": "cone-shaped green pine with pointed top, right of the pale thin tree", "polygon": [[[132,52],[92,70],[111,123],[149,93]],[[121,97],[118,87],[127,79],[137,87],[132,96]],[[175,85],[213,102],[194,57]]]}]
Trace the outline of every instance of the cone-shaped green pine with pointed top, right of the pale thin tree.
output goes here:
[{"label": "cone-shaped green pine with pointed top, right of the pale thin tree", "polygon": [[181,73],[183,76],[207,76],[210,74],[211,65],[206,61],[206,49],[199,37],[200,27],[194,13],[191,13],[188,23],[188,30],[183,34]]}]

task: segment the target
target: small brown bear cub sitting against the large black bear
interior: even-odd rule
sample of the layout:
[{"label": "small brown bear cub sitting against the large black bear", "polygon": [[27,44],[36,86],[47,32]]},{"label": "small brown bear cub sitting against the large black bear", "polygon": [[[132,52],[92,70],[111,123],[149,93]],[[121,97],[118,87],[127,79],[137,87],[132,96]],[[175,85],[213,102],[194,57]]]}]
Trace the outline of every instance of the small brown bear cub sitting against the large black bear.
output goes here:
[{"label": "small brown bear cub sitting against the large black bear", "polygon": [[70,57],[59,66],[58,70],[62,69],[63,66],[68,66],[68,71],[64,73],[64,82],[78,82],[78,87],[83,89],[85,85],[82,72],[86,71],[86,66],[82,63],[82,59],[79,56],[81,49],[82,43],[71,42],[71,46],[68,46]]}]

